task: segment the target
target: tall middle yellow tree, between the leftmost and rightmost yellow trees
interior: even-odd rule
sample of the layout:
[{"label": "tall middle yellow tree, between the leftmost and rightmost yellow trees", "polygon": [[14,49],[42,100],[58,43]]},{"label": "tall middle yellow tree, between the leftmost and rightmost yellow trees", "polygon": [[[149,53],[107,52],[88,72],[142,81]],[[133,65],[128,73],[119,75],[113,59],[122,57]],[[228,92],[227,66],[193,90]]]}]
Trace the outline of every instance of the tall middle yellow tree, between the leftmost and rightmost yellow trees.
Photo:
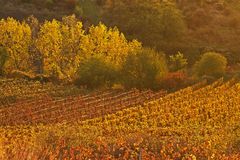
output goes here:
[{"label": "tall middle yellow tree, between the leftmost and rightmost yellow trees", "polygon": [[44,73],[61,79],[71,79],[81,59],[82,23],[75,16],[63,22],[46,21],[40,28],[36,46],[43,55]]}]

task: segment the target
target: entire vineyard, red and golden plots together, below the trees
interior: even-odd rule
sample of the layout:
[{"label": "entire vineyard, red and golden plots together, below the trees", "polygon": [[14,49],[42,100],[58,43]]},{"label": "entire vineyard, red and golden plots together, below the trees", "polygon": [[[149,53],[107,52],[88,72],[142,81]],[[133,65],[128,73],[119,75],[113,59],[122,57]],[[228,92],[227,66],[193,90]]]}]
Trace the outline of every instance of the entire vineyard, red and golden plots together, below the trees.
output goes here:
[{"label": "entire vineyard, red and golden plots together, below the trees", "polygon": [[0,86],[0,159],[240,158],[234,79],[169,94],[11,79]]}]

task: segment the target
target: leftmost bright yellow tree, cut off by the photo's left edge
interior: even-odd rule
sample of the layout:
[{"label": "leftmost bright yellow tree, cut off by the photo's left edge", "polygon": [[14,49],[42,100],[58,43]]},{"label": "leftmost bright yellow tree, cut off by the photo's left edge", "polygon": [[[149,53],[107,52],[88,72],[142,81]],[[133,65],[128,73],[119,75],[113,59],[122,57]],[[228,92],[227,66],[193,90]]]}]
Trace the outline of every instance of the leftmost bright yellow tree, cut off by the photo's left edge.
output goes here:
[{"label": "leftmost bright yellow tree, cut off by the photo's left edge", "polygon": [[31,29],[25,22],[13,18],[0,21],[0,46],[3,46],[9,59],[5,65],[7,72],[11,70],[29,70],[29,45]]}]

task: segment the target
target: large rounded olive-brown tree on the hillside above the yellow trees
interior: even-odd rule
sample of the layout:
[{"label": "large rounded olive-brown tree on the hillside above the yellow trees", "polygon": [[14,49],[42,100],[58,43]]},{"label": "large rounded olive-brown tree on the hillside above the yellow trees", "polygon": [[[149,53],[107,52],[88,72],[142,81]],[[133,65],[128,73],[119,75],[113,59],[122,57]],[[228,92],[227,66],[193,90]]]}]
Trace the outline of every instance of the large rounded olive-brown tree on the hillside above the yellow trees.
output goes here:
[{"label": "large rounded olive-brown tree on the hillside above the yellow trees", "polygon": [[174,3],[115,0],[103,13],[103,21],[143,44],[161,48],[165,41],[177,41],[185,31],[181,11]]}]

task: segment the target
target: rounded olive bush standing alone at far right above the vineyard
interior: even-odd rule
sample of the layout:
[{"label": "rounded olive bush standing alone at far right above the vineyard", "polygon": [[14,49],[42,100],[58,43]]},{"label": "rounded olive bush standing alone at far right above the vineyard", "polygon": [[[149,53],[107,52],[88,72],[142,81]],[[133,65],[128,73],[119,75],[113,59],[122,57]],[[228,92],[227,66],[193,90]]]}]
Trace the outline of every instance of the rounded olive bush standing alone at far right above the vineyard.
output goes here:
[{"label": "rounded olive bush standing alone at far right above the vineyard", "polygon": [[219,53],[207,52],[194,66],[194,73],[198,77],[212,76],[215,78],[225,74],[227,59]]}]

